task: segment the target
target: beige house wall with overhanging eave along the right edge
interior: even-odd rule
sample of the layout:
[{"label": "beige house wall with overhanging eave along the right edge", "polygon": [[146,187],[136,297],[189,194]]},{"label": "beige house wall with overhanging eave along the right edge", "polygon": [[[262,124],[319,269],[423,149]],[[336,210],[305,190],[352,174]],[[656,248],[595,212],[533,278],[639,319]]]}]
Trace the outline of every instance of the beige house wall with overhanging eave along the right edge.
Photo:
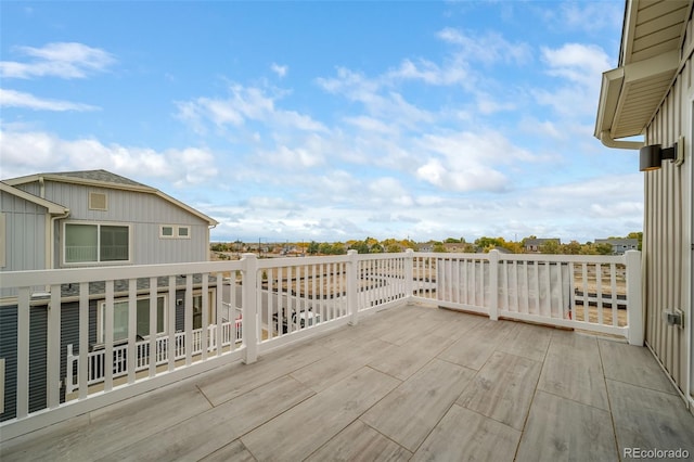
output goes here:
[{"label": "beige house wall with overhanging eave along the right edge", "polygon": [[[603,74],[595,137],[639,150],[644,172],[645,342],[694,406],[694,0],[626,2],[617,67]],[[643,142],[628,140],[642,136]],[[681,313],[681,316],[680,316]]]}]

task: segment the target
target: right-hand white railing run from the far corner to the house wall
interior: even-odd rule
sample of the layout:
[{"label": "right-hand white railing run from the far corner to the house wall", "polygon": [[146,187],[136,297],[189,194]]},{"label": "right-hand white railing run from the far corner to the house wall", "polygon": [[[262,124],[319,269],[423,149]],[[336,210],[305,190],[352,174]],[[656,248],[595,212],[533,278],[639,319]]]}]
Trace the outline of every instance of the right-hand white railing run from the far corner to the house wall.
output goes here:
[{"label": "right-hand white railing run from the far corner to the house wall", "polygon": [[413,297],[642,345],[640,255],[415,254]]}]

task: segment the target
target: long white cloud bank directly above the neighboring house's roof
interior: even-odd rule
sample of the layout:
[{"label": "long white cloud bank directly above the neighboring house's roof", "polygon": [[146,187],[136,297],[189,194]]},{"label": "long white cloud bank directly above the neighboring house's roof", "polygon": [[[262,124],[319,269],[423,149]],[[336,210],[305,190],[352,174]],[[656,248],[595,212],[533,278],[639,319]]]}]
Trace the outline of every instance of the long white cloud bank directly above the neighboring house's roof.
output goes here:
[{"label": "long white cloud bank directly above the neighboring house's roof", "polygon": [[0,131],[2,175],[106,169],[137,178],[160,178],[177,187],[201,184],[217,176],[213,153],[197,149],[157,152],[146,147],[105,145],[94,139],[63,140],[38,131]]}]

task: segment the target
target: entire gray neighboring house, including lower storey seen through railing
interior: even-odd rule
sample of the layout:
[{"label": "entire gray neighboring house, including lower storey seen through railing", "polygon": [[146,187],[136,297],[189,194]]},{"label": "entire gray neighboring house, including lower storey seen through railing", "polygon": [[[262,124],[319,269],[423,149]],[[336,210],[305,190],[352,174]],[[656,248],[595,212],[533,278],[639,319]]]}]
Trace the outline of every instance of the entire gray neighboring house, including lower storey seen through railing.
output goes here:
[{"label": "entire gray neighboring house, including lower storey seen through railing", "polygon": [[[38,174],[0,182],[0,271],[83,268],[114,265],[154,265],[209,259],[209,229],[217,221],[198,210],[147,185],[105,170]],[[0,272],[0,277],[1,272]],[[215,290],[209,290],[208,306],[203,306],[201,279],[193,281],[193,329],[201,329],[203,310],[216,319]],[[77,287],[63,286],[61,309],[61,376],[67,372],[67,346],[78,346],[79,304]],[[137,280],[142,298],[137,303],[137,336],[149,337],[149,281]],[[127,281],[114,286],[114,341],[128,338],[128,303],[119,298],[128,293]],[[46,400],[44,331],[48,299],[33,295],[30,407],[41,409]],[[14,416],[16,385],[16,294],[0,294],[0,358],[7,361],[5,406],[0,421]],[[90,285],[89,344],[98,349],[104,342],[104,286]],[[175,296],[168,281],[158,282],[157,336],[167,334],[169,322],[165,307],[176,305],[177,332],[184,329],[185,281],[178,278]],[[222,317],[233,322],[235,312],[224,307]],[[224,311],[224,309],[227,311]],[[77,349],[75,354],[77,354]],[[14,364],[14,365],[13,365]],[[61,399],[65,399],[65,387]]]}]

